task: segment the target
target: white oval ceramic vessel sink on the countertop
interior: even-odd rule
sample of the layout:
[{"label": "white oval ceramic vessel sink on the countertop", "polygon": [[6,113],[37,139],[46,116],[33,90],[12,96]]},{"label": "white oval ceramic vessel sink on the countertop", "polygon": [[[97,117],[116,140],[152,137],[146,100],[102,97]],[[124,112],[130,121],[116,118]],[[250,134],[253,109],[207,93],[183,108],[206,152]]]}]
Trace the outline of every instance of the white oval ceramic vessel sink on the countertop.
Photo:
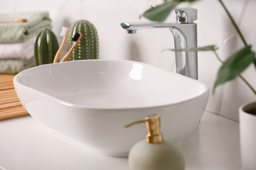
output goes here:
[{"label": "white oval ceramic vessel sink on the countertop", "polygon": [[107,156],[128,156],[159,114],[163,139],[177,143],[200,122],[209,88],[146,63],[80,60],[41,65],[14,77],[26,110],[54,133]]}]

